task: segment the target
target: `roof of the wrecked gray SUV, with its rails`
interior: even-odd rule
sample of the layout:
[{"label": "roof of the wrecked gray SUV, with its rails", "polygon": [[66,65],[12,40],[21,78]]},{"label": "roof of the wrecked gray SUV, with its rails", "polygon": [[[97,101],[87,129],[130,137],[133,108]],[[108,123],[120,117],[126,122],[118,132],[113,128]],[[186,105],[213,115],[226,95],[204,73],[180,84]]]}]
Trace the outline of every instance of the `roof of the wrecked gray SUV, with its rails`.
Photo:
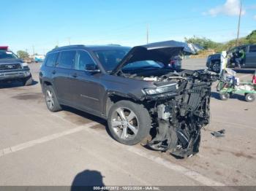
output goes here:
[{"label": "roof of the wrecked gray SUV, with its rails", "polygon": [[83,44],[77,44],[77,45],[69,45],[64,47],[57,47],[53,50],[50,50],[50,52],[56,52],[61,50],[72,50],[72,49],[83,49],[83,50],[111,50],[111,49],[130,49],[131,47],[123,47],[118,44],[110,44],[110,45],[83,45]]}]

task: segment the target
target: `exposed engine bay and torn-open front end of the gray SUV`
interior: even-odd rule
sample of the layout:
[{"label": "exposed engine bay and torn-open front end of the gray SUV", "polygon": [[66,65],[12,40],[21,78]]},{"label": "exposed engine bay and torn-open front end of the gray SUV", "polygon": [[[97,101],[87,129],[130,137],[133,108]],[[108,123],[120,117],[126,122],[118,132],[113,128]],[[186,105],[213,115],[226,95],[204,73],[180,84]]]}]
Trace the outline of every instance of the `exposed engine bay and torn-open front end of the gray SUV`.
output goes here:
[{"label": "exposed engine bay and torn-open front end of the gray SUV", "polygon": [[124,77],[173,85],[167,93],[145,95],[143,104],[151,114],[151,141],[147,147],[178,157],[199,152],[200,130],[209,123],[211,83],[218,78],[210,71],[146,71]]}]

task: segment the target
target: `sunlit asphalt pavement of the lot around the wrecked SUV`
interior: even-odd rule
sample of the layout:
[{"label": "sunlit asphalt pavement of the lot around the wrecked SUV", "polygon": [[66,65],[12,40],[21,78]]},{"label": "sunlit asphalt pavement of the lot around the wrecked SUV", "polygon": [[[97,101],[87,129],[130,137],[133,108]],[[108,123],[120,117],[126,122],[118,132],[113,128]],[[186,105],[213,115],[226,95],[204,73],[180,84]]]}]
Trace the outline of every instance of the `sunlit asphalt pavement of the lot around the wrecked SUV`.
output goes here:
[{"label": "sunlit asphalt pavement of the lot around the wrecked SUV", "polygon": [[[205,69],[189,59],[187,69]],[[0,186],[3,185],[256,185],[256,101],[234,95],[220,101],[212,86],[211,124],[200,152],[184,160],[125,146],[108,134],[105,120],[76,109],[49,112],[41,93],[39,63],[30,64],[34,85],[0,87]],[[251,79],[251,71],[238,77]],[[225,129],[216,138],[212,130]]]}]

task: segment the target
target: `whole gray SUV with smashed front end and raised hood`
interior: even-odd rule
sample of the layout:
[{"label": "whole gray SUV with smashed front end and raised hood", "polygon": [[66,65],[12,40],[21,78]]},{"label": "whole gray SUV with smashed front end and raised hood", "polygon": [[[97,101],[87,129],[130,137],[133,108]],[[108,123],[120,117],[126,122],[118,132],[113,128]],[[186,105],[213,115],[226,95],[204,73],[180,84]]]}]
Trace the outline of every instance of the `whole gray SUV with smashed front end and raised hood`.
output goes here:
[{"label": "whole gray SUV with smashed front end and raised hood", "polygon": [[51,112],[71,106],[108,120],[111,135],[134,145],[186,157],[198,152],[209,122],[208,71],[174,71],[170,58],[184,47],[73,45],[48,52],[39,81]]}]

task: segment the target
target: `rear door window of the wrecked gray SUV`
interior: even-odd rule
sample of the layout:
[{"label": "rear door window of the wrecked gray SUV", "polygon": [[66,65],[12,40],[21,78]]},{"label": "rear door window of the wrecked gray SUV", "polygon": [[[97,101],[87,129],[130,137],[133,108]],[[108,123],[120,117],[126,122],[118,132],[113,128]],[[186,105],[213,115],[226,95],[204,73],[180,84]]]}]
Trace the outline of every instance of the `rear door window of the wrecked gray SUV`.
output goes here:
[{"label": "rear door window of the wrecked gray SUV", "polygon": [[75,50],[61,52],[56,66],[62,69],[72,69],[75,63],[75,52]]}]

